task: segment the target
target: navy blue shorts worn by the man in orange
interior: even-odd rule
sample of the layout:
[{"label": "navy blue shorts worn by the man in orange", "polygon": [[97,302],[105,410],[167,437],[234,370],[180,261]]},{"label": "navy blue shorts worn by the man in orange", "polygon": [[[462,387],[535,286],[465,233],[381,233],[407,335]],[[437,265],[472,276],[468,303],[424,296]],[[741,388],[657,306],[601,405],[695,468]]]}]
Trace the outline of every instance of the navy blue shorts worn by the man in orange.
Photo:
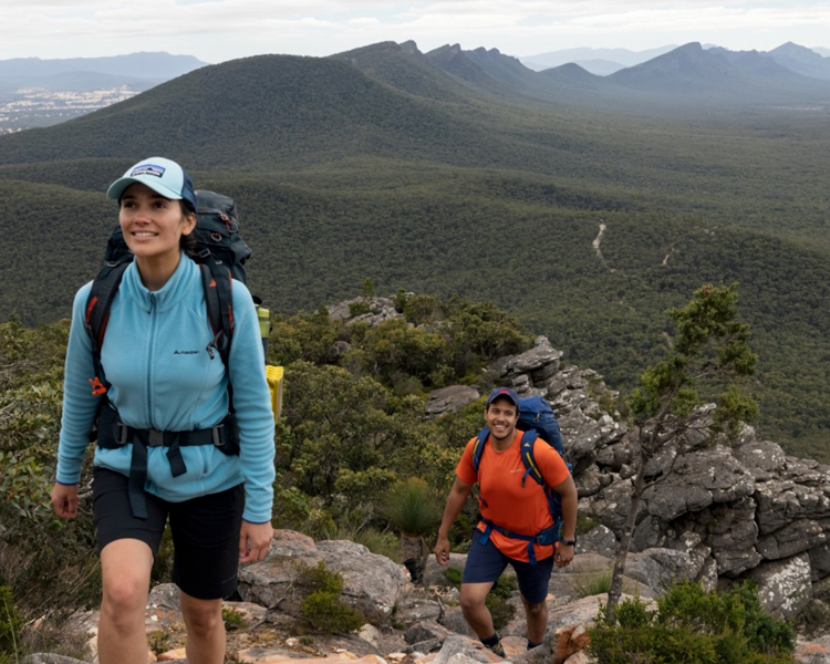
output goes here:
[{"label": "navy blue shorts worn by the man in orange", "polygon": [[467,553],[461,583],[495,583],[508,563],[516,571],[519,592],[531,604],[541,604],[548,596],[548,584],[553,571],[553,557],[549,556],[536,564],[508,558],[496,548],[491,539],[481,544],[481,531],[473,530],[473,543]]}]

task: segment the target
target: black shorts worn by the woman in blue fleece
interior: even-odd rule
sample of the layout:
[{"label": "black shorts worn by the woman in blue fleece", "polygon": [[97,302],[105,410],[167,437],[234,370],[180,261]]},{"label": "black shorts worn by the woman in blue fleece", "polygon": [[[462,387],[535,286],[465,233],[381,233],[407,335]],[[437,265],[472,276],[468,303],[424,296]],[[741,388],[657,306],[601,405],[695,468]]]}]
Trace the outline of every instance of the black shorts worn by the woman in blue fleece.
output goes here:
[{"label": "black shorts worn by the woman in blue fleece", "polygon": [[239,571],[239,530],[245,486],[184,502],[145,494],[147,518],[129,509],[126,475],[95,468],[92,496],[98,551],[118,539],[145,542],[155,558],[167,517],[173,535],[173,582],[190,596],[218,600],[234,594]]}]

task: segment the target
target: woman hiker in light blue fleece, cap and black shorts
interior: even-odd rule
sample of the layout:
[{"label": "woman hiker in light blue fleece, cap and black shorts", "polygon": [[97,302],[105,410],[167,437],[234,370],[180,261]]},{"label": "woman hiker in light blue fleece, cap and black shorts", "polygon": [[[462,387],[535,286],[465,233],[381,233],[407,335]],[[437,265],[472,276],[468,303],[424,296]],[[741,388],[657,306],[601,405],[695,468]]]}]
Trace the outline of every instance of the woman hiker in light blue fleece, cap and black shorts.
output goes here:
[{"label": "woman hiker in light blue fleece, cap and black shorts", "polygon": [[139,162],[107,196],[118,201],[135,258],[110,309],[100,349],[103,384],[91,380],[102,377],[85,330],[91,283],[75,295],[52,505],[59,517],[76,516],[90,433],[103,425],[93,469],[100,662],[147,662],[151,568],[169,518],[187,661],[221,664],[221,600],[236,590],[239,563],[262,560],[272,536],[273,415],[257,314],[247,288],[235,281],[226,367],[208,350],[214,334],[200,268],[187,253],[196,195],[178,164]]}]

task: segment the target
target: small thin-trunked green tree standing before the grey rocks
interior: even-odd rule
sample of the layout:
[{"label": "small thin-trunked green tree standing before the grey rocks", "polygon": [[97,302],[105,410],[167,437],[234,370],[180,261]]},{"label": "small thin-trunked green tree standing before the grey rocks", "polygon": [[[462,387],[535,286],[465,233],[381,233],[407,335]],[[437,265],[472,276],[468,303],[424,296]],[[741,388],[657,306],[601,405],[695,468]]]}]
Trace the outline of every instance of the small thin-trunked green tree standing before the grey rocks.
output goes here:
[{"label": "small thin-trunked green tree standing before the grey rocks", "polygon": [[697,289],[685,307],[671,309],[667,314],[677,326],[677,334],[668,350],[668,357],[647,367],[637,377],[640,386],[626,398],[635,422],[639,449],[635,450],[636,475],[625,525],[620,537],[606,606],[608,620],[622,594],[622,574],[631,546],[631,537],[644,491],[666,478],[647,480],[645,469],[671,438],[691,425],[691,415],[702,404],[697,385],[724,386],[714,414],[713,433],[733,436],[739,423],[757,414],[753,400],[745,396],[734,382],[738,376],[755,372],[757,356],[749,350],[749,326],[737,321],[737,284],[712,284]]}]

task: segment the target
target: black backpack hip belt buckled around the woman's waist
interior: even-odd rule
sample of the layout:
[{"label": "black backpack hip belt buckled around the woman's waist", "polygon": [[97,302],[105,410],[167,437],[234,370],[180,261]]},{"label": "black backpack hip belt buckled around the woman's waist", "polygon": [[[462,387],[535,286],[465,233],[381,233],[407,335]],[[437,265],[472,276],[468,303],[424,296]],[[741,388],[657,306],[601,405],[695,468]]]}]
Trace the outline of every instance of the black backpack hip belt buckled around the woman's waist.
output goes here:
[{"label": "black backpack hip belt buckled around the woman's waist", "polygon": [[167,447],[167,460],[173,477],[187,473],[181,447],[189,445],[212,445],[229,456],[239,454],[239,436],[236,417],[229,413],[216,426],[209,429],[190,432],[162,432],[158,429],[138,429],[124,424],[118,412],[110,402],[101,408],[97,422],[97,444],[104,449],[117,449],[133,445],[129,459],[128,496],[129,509],[138,519],[147,518],[144,497],[144,484],[147,479],[147,448]]}]

